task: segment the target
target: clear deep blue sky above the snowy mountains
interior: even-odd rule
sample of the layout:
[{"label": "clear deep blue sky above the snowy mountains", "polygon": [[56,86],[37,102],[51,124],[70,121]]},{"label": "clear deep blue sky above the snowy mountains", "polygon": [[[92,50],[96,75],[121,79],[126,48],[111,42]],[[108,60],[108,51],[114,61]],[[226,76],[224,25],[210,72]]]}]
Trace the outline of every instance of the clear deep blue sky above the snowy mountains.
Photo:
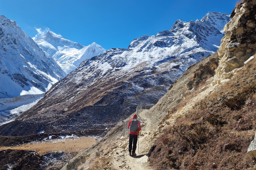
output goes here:
[{"label": "clear deep blue sky above the snowy mountains", "polygon": [[0,15],[30,37],[49,28],[63,38],[105,49],[128,48],[143,35],[170,30],[178,19],[201,19],[207,12],[230,14],[237,0],[0,0]]}]

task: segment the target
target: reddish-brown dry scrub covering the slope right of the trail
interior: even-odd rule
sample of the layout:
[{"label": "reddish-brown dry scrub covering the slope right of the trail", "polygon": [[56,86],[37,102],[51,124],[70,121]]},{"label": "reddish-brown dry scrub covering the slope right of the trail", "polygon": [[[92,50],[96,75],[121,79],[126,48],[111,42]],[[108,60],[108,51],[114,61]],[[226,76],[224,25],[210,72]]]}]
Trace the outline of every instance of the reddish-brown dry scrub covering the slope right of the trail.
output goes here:
[{"label": "reddish-brown dry scrub covering the slope right of the trail", "polygon": [[165,129],[154,144],[151,165],[155,169],[255,169],[256,159],[246,154],[256,130],[255,90],[256,63],[251,62]]}]

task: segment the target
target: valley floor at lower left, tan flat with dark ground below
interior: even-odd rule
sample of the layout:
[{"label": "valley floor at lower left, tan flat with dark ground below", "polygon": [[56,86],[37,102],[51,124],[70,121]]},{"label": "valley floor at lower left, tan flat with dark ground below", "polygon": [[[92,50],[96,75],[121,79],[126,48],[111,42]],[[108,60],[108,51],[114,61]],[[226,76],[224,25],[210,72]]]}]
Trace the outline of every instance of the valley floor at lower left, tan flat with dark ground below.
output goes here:
[{"label": "valley floor at lower left, tan flat with dark ground below", "polygon": [[[32,139],[34,136],[30,137]],[[15,137],[11,138],[13,140],[12,146],[0,147],[0,170],[59,170],[65,162],[84,149],[94,145],[98,140],[97,137],[78,137],[73,135],[63,135],[62,137],[24,144],[15,144]],[[10,139],[6,138],[6,140]],[[4,144],[6,143],[1,145]]]}]

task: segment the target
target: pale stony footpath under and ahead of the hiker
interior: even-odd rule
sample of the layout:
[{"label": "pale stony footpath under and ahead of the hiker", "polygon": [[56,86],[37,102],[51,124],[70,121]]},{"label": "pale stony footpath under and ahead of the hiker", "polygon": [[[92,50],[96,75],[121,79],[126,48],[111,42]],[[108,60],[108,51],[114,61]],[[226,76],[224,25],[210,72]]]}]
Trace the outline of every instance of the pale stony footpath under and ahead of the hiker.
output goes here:
[{"label": "pale stony footpath under and ahead of the hiker", "polygon": [[145,140],[152,130],[150,117],[146,114],[148,110],[143,110],[139,113],[143,120],[142,130],[139,136],[139,142],[137,142],[136,156],[129,156],[128,145],[129,136],[126,135],[125,139],[117,140],[115,146],[113,146],[112,152],[108,155],[111,157],[110,166],[115,169],[131,169],[131,170],[150,170],[148,161],[148,145],[149,143]]}]

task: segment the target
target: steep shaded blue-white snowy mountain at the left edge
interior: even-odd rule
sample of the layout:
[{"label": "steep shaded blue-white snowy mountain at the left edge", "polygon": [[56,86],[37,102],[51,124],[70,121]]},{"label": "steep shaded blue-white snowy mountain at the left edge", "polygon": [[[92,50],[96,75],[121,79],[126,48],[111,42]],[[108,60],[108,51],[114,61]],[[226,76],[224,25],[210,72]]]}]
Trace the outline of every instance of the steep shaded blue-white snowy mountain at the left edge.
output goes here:
[{"label": "steep shaded blue-white snowy mountain at the left edge", "polygon": [[[15,21],[0,16],[0,116],[22,105],[30,108],[31,103],[42,98],[40,94],[65,76],[54,59]],[[22,95],[25,97],[19,98]]]}]

